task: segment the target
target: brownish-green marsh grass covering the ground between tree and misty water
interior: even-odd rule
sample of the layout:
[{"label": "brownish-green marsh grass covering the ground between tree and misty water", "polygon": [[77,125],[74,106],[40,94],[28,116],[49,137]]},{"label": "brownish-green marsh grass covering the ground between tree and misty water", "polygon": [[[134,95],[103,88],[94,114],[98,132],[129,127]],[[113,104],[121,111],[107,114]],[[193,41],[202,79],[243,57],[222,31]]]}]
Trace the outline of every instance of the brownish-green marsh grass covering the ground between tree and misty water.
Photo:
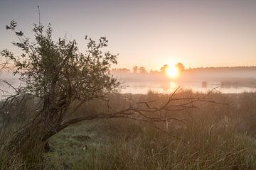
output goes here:
[{"label": "brownish-green marsh grass covering the ground between tree and misty water", "polygon": [[[201,95],[185,91],[177,97]],[[50,139],[53,152],[31,148],[26,161],[12,169],[256,169],[256,100],[253,93],[212,94],[219,105],[197,103],[191,111],[174,112],[186,124],[159,125],[175,137],[139,121],[91,120],[70,126]],[[132,102],[156,100],[160,105],[168,96],[110,96],[112,106],[125,108]],[[104,111],[100,101],[88,103],[77,115]],[[1,128],[0,144],[10,129]],[[43,155],[36,157],[36,154]],[[6,166],[0,154],[0,169]]]}]

